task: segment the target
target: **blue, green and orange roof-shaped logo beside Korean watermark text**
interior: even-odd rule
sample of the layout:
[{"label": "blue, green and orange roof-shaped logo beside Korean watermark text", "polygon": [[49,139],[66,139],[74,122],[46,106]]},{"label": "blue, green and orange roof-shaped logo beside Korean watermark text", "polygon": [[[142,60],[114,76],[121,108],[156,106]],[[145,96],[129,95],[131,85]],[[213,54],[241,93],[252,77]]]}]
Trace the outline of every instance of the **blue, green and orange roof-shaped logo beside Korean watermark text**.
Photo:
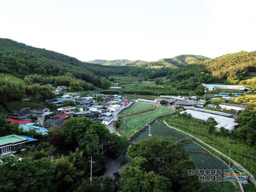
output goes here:
[{"label": "blue, green and orange roof-shaped logo beside Korean watermark text", "polygon": [[237,182],[245,182],[246,181],[246,171],[238,169],[236,165],[234,165],[231,169],[224,170],[224,181],[233,180]]}]

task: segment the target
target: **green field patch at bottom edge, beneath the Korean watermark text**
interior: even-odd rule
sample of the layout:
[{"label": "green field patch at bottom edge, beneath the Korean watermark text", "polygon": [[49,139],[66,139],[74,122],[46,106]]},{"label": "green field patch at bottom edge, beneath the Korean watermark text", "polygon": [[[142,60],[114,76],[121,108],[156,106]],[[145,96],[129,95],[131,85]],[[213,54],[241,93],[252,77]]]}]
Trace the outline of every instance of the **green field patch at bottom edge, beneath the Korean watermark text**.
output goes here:
[{"label": "green field patch at bottom edge, beneath the Korean watermark text", "polygon": [[211,182],[203,183],[202,186],[196,192],[240,192],[232,182]]}]

